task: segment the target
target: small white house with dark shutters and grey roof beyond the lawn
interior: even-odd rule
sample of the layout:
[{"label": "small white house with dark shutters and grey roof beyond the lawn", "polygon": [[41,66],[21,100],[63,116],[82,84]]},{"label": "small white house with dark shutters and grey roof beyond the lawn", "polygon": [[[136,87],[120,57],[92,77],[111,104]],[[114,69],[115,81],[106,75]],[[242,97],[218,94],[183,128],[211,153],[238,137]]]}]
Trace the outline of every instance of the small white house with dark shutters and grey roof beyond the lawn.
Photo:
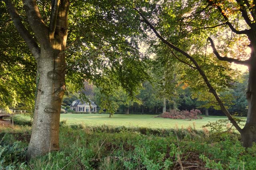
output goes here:
[{"label": "small white house with dark shutters and grey roof beyond the lawn", "polygon": [[74,100],[70,105],[70,109],[76,112],[97,112],[97,105],[92,100],[89,101],[90,104],[83,100]]}]

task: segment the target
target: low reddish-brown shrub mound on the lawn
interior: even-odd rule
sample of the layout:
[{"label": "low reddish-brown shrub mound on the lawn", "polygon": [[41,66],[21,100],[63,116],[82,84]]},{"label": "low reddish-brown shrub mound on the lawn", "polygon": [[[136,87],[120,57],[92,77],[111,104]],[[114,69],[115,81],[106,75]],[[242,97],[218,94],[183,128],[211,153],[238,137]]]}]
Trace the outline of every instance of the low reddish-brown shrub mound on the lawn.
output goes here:
[{"label": "low reddish-brown shrub mound on the lawn", "polygon": [[169,112],[164,112],[163,114],[160,114],[157,117],[162,117],[162,118],[170,118],[170,119],[202,119],[202,116],[200,116],[202,113],[198,109],[192,109],[190,111],[188,110],[176,110],[172,109]]}]

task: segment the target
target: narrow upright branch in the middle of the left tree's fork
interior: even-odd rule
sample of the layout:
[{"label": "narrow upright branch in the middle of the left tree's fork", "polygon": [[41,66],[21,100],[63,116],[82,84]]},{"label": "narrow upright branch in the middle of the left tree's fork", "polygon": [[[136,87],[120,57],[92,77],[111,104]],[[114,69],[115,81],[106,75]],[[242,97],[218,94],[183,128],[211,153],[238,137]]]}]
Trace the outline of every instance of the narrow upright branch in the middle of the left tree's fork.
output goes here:
[{"label": "narrow upright branch in the middle of the left tree's fork", "polygon": [[56,28],[56,22],[58,17],[58,9],[60,5],[60,0],[52,0],[52,13],[51,13],[51,20],[50,20],[50,37],[54,37],[54,32]]}]

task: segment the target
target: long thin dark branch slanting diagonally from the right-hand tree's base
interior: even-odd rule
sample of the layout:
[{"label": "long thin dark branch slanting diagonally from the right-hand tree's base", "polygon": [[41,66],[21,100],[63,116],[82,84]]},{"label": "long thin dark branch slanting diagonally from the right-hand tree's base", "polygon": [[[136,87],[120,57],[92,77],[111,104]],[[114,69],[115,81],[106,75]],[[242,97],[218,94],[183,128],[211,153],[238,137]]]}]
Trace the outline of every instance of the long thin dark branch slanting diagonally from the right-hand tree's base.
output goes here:
[{"label": "long thin dark branch slanting diagonally from the right-hand tree's base", "polygon": [[145,18],[145,16],[137,9],[134,8],[134,10],[136,10],[140,16],[143,18],[144,23],[146,23],[150,29],[156,34],[156,36],[162,40],[162,42],[164,44],[166,44],[167,46],[169,46],[170,48],[176,50],[177,52],[180,52],[181,54],[183,54],[186,58],[188,58],[196,67],[196,69],[198,70],[198,72],[200,73],[200,75],[202,76],[202,78],[204,79],[204,82],[206,84],[206,86],[209,88],[209,92],[211,92],[215,99],[217,100],[222,112],[228,117],[228,120],[230,120],[230,122],[234,125],[234,127],[238,130],[238,132],[242,133],[242,129],[240,128],[240,126],[237,124],[237,122],[234,120],[234,118],[231,116],[231,114],[228,112],[228,110],[226,109],[226,107],[224,106],[222,100],[220,99],[220,97],[218,96],[216,90],[212,87],[212,85],[210,84],[206,74],[204,73],[204,71],[200,68],[200,66],[198,65],[198,63],[196,62],[196,60],[190,56],[187,52],[181,50],[180,48],[174,46],[173,44],[171,44],[170,42],[168,42],[166,39],[164,39],[154,28],[154,26],[152,26],[152,24],[150,24],[150,22],[148,22],[148,20]]}]

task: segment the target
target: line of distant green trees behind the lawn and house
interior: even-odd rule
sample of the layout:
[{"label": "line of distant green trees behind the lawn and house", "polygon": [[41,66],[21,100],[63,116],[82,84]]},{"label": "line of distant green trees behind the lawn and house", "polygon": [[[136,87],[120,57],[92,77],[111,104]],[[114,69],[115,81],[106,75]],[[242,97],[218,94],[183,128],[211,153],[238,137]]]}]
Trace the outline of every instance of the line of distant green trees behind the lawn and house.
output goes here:
[{"label": "line of distant green trees behind the lawn and house", "polygon": [[[236,81],[232,82],[230,88],[220,94],[222,98],[226,98],[227,108],[232,115],[246,116],[247,114],[248,106],[244,95],[247,90],[247,82],[248,72],[243,72]],[[174,84],[177,85],[178,83],[174,82]],[[138,91],[135,98],[132,99],[120,88],[116,91],[115,95],[112,96],[110,101],[114,109],[111,110],[112,108],[109,108],[108,110],[108,106],[104,105],[104,102],[101,101],[104,95],[100,93],[100,90],[93,84],[84,82],[84,88],[79,92],[70,91],[69,94],[66,93],[66,95],[64,95],[62,106],[70,106],[74,100],[80,99],[79,94],[83,93],[86,99],[90,99],[98,105],[98,111],[100,112],[161,114],[164,110],[192,110],[197,108],[206,116],[224,116],[216,101],[202,98],[200,93],[192,92],[192,89],[185,84],[175,86],[172,94],[170,94],[168,98],[162,97],[162,90],[163,89],[160,88],[159,84],[156,82],[152,83],[146,81],[142,83],[142,88]],[[68,112],[71,111],[72,110],[68,110]]]}]

